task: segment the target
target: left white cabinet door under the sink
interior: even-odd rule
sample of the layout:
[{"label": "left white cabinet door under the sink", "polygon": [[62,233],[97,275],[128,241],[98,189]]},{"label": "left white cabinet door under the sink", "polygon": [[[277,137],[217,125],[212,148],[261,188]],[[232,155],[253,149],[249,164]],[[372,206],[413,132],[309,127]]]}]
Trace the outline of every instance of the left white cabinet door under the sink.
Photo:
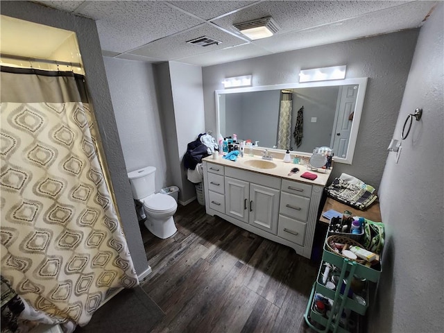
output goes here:
[{"label": "left white cabinet door under the sink", "polygon": [[225,214],[248,223],[248,191],[250,184],[225,177]]}]

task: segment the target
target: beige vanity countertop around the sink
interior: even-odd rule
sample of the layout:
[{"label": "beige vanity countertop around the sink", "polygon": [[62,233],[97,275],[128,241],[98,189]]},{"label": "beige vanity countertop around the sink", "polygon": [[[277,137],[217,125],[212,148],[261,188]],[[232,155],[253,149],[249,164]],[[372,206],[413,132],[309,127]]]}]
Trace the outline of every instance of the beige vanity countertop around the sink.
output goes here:
[{"label": "beige vanity countertop around the sink", "polygon": [[[298,182],[304,182],[306,184],[311,184],[311,185],[320,185],[320,186],[324,186],[324,187],[327,184],[328,178],[330,177],[330,172],[332,171],[332,169],[330,169],[330,170],[327,170],[326,173],[324,173],[325,169],[320,169],[320,171],[307,170],[306,165],[284,163],[280,159],[273,159],[271,161],[276,164],[276,167],[274,167],[273,169],[257,169],[255,167],[250,167],[250,166],[244,164],[244,162],[249,161],[249,160],[262,160],[261,156],[257,156],[257,155],[255,155],[254,157],[247,156],[247,155],[244,155],[244,157],[238,156],[237,160],[235,162],[230,161],[230,160],[225,160],[222,156],[223,155],[217,155],[216,158],[214,158],[212,156],[208,156],[208,157],[205,157],[203,159],[203,161],[208,162],[208,163],[215,163],[215,164],[223,165],[225,167],[244,169],[247,171],[262,173],[262,174],[268,175],[268,176],[275,176],[275,177],[279,177],[282,179],[288,179],[288,180],[296,180]],[[299,169],[299,172],[293,173],[291,176],[289,176],[290,170],[295,167]],[[302,175],[302,173],[305,173],[306,171],[316,174],[318,176],[318,178],[316,178],[315,180],[301,178],[300,175]]]}]

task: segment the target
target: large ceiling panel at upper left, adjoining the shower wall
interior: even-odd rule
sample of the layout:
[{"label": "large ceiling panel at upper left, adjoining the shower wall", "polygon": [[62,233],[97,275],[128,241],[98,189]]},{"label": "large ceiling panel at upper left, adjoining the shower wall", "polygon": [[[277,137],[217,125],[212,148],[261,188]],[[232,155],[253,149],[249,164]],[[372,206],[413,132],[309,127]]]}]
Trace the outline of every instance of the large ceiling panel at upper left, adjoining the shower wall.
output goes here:
[{"label": "large ceiling panel at upper left, adjoining the shower wall", "polygon": [[202,23],[164,1],[91,1],[79,14],[96,19],[102,49],[114,52],[135,49]]}]

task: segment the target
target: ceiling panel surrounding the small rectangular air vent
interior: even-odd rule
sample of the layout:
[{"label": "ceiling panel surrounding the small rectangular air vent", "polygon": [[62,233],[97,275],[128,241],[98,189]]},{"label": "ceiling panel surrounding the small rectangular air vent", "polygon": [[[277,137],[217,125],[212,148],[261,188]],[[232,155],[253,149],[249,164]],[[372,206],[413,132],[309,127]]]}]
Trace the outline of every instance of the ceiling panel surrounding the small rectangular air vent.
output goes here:
[{"label": "ceiling panel surrounding the small rectangular air vent", "polygon": [[[221,41],[219,45],[197,46],[187,43],[188,40],[194,40],[198,37],[210,37],[214,40]],[[156,40],[139,49],[131,51],[131,54],[138,56],[146,56],[150,58],[162,58],[166,60],[175,60],[177,58],[185,58],[188,56],[196,56],[197,54],[207,53],[225,49],[228,46],[244,44],[245,41],[233,35],[224,33],[218,28],[214,28],[211,24],[202,24],[191,31],[178,33],[170,37]]]}]

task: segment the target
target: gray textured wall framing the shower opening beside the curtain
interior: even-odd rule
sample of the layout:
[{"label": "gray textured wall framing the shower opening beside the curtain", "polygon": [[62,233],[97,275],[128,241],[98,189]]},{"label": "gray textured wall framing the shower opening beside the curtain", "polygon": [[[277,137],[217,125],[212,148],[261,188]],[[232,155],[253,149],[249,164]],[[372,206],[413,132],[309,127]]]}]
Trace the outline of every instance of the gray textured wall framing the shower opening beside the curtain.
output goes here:
[{"label": "gray textured wall framing the shower opening beside the curtain", "polygon": [[1,1],[1,14],[76,33],[123,230],[135,269],[138,274],[143,273],[148,268],[148,262],[112,112],[110,91],[95,22],[27,1]]}]

